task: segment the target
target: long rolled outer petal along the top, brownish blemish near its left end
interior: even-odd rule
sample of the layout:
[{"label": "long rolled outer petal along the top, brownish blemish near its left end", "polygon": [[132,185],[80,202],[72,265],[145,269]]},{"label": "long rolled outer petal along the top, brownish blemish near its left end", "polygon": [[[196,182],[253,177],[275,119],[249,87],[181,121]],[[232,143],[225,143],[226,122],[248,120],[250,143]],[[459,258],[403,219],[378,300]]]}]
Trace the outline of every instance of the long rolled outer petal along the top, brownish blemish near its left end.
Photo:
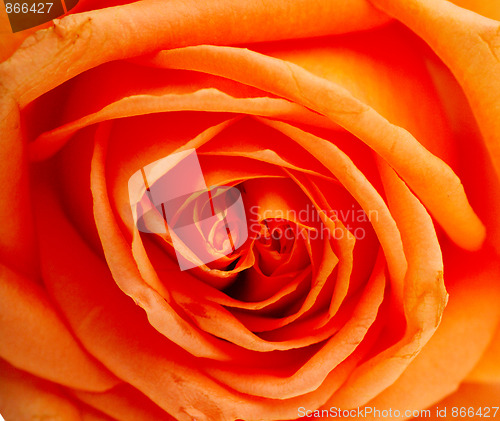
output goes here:
[{"label": "long rolled outer petal along the top, brownish blemish near its left end", "polygon": [[54,27],[28,37],[23,48],[0,65],[0,79],[24,107],[99,64],[162,48],[345,33],[387,20],[366,0],[349,5],[341,0],[279,0],[272,7],[230,0],[216,5],[196,0],[133,2],[55,20]]}]

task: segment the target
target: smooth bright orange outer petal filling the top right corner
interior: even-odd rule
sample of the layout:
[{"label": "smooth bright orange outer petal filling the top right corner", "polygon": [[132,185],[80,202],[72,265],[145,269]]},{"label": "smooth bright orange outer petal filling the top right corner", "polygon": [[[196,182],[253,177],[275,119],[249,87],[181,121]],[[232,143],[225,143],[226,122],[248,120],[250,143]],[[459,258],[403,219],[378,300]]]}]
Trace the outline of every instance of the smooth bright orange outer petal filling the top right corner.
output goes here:
[{"label": "smooth bright orange outer petal filling the top right corner", "polygon": [[500,177],[500,23],[445,0],[372,3],[415,31],[451,69]]}]

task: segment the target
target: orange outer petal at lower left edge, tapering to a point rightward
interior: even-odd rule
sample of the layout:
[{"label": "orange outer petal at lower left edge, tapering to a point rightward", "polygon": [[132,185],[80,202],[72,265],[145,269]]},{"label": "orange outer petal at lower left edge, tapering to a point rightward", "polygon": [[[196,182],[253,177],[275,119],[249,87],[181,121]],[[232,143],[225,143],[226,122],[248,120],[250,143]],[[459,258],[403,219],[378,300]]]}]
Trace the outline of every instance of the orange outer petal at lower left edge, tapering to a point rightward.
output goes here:
[{"label": "orange outer petal at lower left edge, tapering to a point rightward", "polygon": [[0,265],[0,355],[18,368],[82,390],[102,391],[118,380],[73,338],[33,281]]}]

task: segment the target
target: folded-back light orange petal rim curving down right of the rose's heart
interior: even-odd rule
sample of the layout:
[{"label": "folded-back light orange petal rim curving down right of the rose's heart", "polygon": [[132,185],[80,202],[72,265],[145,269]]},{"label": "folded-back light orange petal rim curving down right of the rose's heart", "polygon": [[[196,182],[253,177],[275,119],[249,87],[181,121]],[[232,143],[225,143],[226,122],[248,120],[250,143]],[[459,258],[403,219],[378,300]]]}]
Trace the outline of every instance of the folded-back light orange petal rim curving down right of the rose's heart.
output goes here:
[{"label": "folded-back light orange petal rim curving down right of the rose's heart", "polygon": [[404,288],[407,328],[400,341],[359,366],[332,396],[329,405],[341,408],[366,404],[406,372],[411,361],[427,349],[425,344],[438,328],[447,301],[441,249],[432,220],[394,170],[380,162],[389,206],[408,259]]}]

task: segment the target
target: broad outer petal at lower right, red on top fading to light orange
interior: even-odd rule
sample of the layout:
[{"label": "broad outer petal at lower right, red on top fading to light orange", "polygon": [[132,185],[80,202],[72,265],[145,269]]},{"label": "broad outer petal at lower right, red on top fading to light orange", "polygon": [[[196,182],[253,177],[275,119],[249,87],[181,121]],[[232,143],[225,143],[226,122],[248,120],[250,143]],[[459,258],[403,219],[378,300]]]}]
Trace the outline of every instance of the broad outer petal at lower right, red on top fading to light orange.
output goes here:
[{"label": "broad outer petal at lower right, red on top fading to light orange", "polygon": [[[457,389],[481,358],[498,325],[500,269],[491,257],[458,250],[445,255],[450,300],[439,329],[402,375],[367,406],[404,413],[433,405]],[[380,382],[380,377],[375,381]]]}]

